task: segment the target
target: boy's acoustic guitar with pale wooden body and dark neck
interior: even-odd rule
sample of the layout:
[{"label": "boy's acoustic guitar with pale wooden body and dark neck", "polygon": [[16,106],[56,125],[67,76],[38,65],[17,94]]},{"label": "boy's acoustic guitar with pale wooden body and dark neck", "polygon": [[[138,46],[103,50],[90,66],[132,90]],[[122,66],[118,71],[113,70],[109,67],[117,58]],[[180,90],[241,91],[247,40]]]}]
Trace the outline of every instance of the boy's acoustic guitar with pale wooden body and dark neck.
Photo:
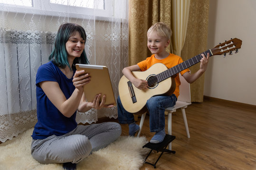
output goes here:
[{"label": "boy's acoustic guitar with pale wooden body and dark neck", "polygon": [[205,56],[207,56],[207,53],[210,56],[224,54],[226,56],[226,53],[229,53],[231,55],[232,51],[237,53],[241,45],[242,41],[234,38],[220,43],[213,49],[204,51],[169,69],[162,63],[156,63],[146,71],[133,71],[132,74],[134,77],[148,82],[149,88],[146,90],[136,88],[129,79],[122,76],[119,81],[118,91],[124,109],[128,112],[136,113],[145,108],[147,100],[152,96],[171,95],[175,90],[175,81],[171,76],[199,63],[202,58],[201,54],[205,54]]}]

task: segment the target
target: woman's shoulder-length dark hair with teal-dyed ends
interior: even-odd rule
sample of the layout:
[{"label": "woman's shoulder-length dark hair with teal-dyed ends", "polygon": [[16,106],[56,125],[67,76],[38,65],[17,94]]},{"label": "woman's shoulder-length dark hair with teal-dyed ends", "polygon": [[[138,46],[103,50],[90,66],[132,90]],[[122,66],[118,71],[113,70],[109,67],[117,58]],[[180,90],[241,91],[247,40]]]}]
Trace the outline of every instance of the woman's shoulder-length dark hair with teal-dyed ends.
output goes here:
[{"label": "woman's shoulder-length dark hair with teal-dyed ends", "polygon": [[49,56],[49,60],[53,61],[54,64],[61,68],[68,66],[69,68],[74,68],[76,64],[89,64],[89,61],[85,54],[85,49],[83,50],[80,57],[74,59],[73,65],[70,66],[67,60],[66,52],[66,42],[69,37],[76,33],[76,31],[81,35],[81,37],[86,41],[85,29],[82,26],[73,23],[63,23],[57,32],[54,49]]}]

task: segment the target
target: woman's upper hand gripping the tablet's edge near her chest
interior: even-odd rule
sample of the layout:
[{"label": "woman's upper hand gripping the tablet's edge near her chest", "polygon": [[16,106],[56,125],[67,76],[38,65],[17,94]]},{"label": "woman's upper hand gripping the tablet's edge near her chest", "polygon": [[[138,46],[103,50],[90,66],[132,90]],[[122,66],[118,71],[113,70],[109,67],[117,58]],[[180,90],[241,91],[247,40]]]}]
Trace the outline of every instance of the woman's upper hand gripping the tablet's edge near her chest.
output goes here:
[{"label": "woman's upper hand gripping the tablet's edge near her chest", "polygon": [[83,90],[83,86],[90,82],[91,77],[88,73],[85,73],[85,70],[77,71],[73,77],[73,85],[78,90]]}]

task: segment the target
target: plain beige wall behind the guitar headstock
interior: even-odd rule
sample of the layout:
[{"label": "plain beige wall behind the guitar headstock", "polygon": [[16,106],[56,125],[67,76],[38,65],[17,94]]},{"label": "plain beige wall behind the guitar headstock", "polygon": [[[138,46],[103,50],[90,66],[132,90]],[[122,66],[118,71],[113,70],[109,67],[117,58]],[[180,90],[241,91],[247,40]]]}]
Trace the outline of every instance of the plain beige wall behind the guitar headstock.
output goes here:
[{"label": "plain beige wall behind the guitar headstock", "polygon": [[256,105],[256,0],[209,0],[208,49],[241,39],[237,54],[210,58],[204,95]]}]

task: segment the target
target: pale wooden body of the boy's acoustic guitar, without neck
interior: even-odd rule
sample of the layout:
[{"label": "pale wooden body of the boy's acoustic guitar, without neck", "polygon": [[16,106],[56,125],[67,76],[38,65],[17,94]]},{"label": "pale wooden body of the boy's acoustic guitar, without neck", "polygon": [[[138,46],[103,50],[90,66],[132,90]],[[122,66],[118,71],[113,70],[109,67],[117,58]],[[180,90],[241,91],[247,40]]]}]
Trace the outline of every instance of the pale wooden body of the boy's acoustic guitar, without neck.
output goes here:
[{"label": "pale wooden body of the boy's acoustic guitar, without neck", "polygon": [[[164,64],[156,63],[146,71],[133,71],[132,73],[134,77],[148,81],[150,77],[167,69],[168,68]],[[127,82],[129,82],[129,80],[125,76],[122,76],[119,81],[118,91],[124,109],[131,113],[136,113],[142,110],[147,100],[152,96],[171,95],[176,87],[174,78],[167,78],[158,84],[150,86],[150,88],[146,90],[140,90],[133,85],[133,90],[137,101],[133,103]]]}]

